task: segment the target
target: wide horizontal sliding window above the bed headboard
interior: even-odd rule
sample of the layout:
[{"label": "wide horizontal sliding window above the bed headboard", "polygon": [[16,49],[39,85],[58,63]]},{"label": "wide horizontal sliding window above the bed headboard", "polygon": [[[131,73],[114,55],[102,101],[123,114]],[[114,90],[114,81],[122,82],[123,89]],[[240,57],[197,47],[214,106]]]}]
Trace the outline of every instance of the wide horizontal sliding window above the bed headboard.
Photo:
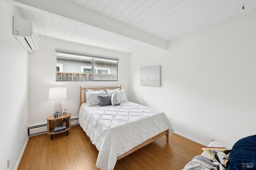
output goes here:
[{"label": "wide horizontal sliding window above the bed headboard", "polygon": [[118,81],[118,58],[56,49],[56,81]]}]

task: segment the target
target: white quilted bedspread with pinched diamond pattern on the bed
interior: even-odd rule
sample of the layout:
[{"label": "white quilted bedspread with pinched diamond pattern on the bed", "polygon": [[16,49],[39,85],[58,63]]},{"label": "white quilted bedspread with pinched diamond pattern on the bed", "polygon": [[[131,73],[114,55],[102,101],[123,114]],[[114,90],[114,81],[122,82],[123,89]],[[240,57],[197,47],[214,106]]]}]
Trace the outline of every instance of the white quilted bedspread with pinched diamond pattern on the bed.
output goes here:
[{"label": "white quilted bedspread with pinched diamond pattern on the bed", "polygon": [[132,102],[118,106],[80,107],[79,124],[98,149],[96,166],[113,170],[117,156],[169,129],[174,131],[166,114]]}]

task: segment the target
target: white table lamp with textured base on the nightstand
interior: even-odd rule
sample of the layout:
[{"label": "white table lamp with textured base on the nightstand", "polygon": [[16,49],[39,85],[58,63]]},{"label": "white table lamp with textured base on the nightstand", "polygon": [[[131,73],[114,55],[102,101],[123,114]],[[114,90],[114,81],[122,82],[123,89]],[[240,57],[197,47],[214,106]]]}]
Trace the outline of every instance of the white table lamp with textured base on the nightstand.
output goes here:
[{"label": "white table lamp with textured base on the nightstand", "polygon": [[50,88],[48,99],[56,100],[54,104],[53,114],[58,112],[59,115],[62,114],[62,106],[60,103],[61,99],[66,99],[67,93],[66,88],[58,87],[58,88]]}]

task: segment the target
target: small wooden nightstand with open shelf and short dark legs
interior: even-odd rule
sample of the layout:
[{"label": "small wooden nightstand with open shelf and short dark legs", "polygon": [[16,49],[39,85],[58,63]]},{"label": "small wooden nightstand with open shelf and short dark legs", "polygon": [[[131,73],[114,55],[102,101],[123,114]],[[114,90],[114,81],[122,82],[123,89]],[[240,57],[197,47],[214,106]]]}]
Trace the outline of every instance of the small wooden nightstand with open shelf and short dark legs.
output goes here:
[{"label": "small wooden nightstand with open shelf and short dark legs", "polygon": [[[66,129],[59,132],[54,132],[54,127],[58,127],[62,125],[62,121],[65,118],[66,118]],[[60,117],[57,117],[57,118],[53,118],[53,115],[47,117],[47,133],[51,134],[51,140],[52,140],[53,134],[67,132],[67,135],[68,135],[68,130],[70,128],[71,128],[71,113],[68,113],[67,115],[62,114]]]}]

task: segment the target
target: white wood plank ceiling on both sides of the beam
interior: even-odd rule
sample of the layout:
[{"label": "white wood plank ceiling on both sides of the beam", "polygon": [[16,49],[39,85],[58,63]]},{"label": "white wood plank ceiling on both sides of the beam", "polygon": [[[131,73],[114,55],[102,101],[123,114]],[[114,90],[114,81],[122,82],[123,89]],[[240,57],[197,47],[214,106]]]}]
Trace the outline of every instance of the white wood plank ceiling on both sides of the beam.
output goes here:
[{"label": "white wood plank ceiling on both sides of the beam", "polygon": [[[256,0],[68,0],[165,41],[256,12]],[[244,9],[243,9],[244,6]],[[15,7],[16,16],[35,22],[39,35],[125,53],[150,45],[102,29]]]}]

